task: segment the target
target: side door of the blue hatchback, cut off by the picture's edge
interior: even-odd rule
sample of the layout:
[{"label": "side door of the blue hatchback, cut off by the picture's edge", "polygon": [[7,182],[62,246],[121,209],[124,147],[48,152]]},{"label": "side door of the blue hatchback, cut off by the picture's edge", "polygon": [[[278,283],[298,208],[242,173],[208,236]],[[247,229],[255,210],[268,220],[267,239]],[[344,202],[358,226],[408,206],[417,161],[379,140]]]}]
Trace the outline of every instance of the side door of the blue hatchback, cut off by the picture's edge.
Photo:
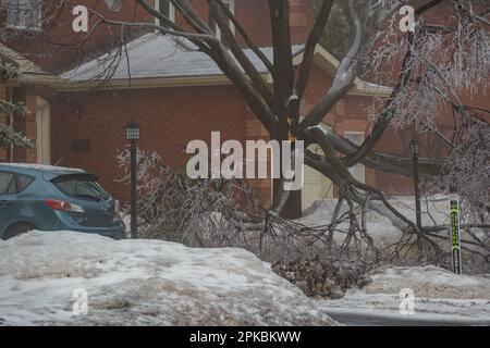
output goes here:
[{"label": "side door of the blue hatchback, cut off by the picture's edge", "polygon": [[15,174],[0,172],[0,233],[2,235],[4,229],[15,221],[16,194]]}]

